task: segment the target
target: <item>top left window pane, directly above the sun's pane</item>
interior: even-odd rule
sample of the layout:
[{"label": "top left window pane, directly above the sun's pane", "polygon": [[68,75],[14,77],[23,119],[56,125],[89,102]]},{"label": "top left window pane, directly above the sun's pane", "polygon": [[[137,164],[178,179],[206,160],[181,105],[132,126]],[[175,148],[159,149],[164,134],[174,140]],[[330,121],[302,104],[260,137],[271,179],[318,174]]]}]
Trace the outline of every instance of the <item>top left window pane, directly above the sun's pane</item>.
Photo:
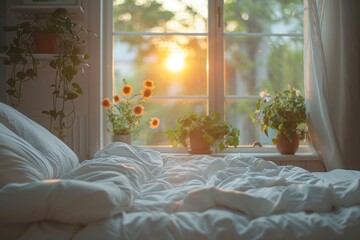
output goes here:
[{"label": "top left window pane, directly above the sun's pane", "polygon": [[115,32],[207,32],[207,0],[114,1]]}]

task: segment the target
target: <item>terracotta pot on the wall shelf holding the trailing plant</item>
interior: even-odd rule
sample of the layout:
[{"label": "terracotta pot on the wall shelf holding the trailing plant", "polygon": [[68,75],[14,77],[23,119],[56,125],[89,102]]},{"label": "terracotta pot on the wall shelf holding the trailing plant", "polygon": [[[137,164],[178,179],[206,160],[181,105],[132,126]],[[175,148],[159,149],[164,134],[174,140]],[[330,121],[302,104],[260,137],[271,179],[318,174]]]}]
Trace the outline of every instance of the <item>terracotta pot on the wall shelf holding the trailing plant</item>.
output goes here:
[{"label": "terracotta pot on the wall shelf holding the trailing plant", "polygon": [[56,53],[56,33],[33,32],[36,53]]}]

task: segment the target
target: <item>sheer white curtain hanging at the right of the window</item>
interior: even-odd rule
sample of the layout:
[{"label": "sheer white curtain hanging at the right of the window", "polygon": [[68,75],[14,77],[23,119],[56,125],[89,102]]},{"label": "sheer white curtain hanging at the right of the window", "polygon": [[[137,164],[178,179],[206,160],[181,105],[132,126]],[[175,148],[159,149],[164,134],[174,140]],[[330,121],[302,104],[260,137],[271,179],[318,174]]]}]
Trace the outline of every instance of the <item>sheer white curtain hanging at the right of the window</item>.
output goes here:
[{"label": "sheer white curtain hanging at the right of the window", "polygon": [[328,170],[360,169],[360,1],[304,2],[310,141]]}]

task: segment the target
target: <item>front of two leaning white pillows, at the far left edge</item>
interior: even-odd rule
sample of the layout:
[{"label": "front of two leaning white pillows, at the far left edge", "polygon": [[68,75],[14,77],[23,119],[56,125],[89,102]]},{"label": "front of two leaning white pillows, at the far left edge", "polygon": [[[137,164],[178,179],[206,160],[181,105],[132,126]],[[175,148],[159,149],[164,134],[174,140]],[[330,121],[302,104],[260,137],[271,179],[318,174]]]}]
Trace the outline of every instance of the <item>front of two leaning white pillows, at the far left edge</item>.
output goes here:
[{"label": "front of two leaning white pillows, at the far left edge", "polygon": [[0,123],[0,188],[8,183],[49,179],[53,172],[38,150]]}]

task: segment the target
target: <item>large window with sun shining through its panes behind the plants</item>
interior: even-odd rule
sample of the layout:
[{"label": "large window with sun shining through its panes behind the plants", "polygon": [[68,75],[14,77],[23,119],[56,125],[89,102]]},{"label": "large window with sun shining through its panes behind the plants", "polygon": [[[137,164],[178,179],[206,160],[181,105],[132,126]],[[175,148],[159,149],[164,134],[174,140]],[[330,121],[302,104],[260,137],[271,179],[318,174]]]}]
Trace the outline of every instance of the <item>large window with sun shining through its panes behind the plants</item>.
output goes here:
[{"label": "large window with sun shining through its panes behind the plants", "polygon": [[242,145],[271,144],[250,118],[258,93],[303,92],[301,0],[114,0],[112,34],[114,92],[123,78],[156,85],[146,107],[161,125],[136,144],[169,145],[190,111],[221,113]]}]

